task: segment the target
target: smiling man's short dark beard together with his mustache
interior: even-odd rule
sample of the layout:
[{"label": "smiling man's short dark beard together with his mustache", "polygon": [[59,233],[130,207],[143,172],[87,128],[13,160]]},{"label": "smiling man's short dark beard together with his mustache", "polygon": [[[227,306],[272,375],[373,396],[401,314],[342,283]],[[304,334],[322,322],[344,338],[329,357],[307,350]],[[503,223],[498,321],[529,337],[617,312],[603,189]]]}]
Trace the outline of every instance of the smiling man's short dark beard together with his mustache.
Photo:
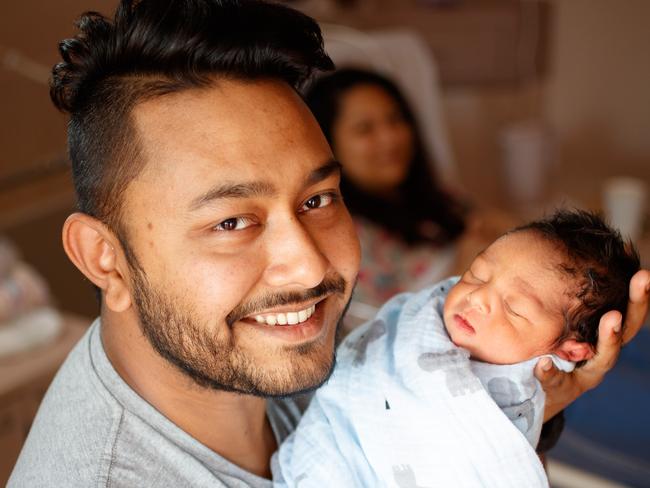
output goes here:
[{"label": "smiling man's short dark beard together with his mustache", "polygon": [[[139,263],[131,264],[133,298],[144,336],[163,358],[199,386],[261,397],[285,397],[312,391],[331,375],[336,363],[333,343],[321,338],[286,346],[273,351],[273,355],[279,355],[277,368],[261,368],[254,357],[234,343],[233,334],[219,335],[215,324],[201,323],[184,301],[172,299],[153,287]],[[264,308],[328,294],[342,295],[345,289],[346,282],[340,275],[325,278],[304,293],[275,294],[241,304],[228,314],[222,326],[230,328],[237,320]],[[348,305],[349,301],[337,319],[336,335]],[[263,349],[261,346],[258,353]]]}]

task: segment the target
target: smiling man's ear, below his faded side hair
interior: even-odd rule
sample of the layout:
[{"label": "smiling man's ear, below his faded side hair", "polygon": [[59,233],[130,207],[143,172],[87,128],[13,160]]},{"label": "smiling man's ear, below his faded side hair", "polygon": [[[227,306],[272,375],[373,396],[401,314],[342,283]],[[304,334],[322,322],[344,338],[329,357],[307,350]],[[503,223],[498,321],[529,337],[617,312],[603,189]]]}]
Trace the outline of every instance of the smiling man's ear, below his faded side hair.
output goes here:
[{"label": "smiling man's ear, below his faded side hair", "polygon": [[102,290],[103,301],[114,312],[131,306],[131,293],[120,269],[119,240],[99,220],[76,212],[63,224],[63,249],[86,278]]}]

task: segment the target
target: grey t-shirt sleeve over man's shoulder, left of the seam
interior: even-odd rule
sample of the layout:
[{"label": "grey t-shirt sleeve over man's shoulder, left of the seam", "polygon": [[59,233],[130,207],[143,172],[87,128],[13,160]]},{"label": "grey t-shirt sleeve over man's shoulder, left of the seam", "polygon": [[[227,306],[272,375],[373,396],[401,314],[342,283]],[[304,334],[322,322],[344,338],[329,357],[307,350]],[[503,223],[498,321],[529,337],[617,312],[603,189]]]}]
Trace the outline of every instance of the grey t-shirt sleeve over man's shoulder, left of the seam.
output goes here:
[{"label": "grey t-shirt sleeve over man's shoulder, left of the seam", "polygon": [[97,376],[82,337],[48,388],[9,486],[92,486],[101,477],[121,409]]}]

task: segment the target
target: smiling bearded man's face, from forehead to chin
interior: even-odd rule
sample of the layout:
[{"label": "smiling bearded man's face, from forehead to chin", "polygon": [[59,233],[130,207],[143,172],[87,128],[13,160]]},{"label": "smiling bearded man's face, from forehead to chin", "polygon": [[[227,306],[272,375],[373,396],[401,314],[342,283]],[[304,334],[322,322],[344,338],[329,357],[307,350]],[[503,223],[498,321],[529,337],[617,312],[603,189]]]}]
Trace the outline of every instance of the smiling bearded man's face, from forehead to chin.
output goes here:
[{"label": "smiling bearded man's face, from forehead to chin", "polygon": [[286,84],[221,80],[133,117],[147,164],[121,215],[149,341],[203,386],[319,385],[359,246],[311,113]]}]

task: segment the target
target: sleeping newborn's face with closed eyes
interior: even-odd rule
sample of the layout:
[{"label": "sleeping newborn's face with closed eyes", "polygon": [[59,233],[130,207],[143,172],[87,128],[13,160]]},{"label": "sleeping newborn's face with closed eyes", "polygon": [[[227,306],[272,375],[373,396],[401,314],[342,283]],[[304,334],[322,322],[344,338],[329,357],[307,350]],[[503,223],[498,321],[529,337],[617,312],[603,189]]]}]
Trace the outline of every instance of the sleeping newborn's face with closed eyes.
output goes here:
[{"label": "sleeping newborn's face with closed eyes", "polygon": [[495,364],[552,352],[569,300],[558,262],[557,251],[532,232],[492,243],[449,291],[444,321],[454,344]]}]

